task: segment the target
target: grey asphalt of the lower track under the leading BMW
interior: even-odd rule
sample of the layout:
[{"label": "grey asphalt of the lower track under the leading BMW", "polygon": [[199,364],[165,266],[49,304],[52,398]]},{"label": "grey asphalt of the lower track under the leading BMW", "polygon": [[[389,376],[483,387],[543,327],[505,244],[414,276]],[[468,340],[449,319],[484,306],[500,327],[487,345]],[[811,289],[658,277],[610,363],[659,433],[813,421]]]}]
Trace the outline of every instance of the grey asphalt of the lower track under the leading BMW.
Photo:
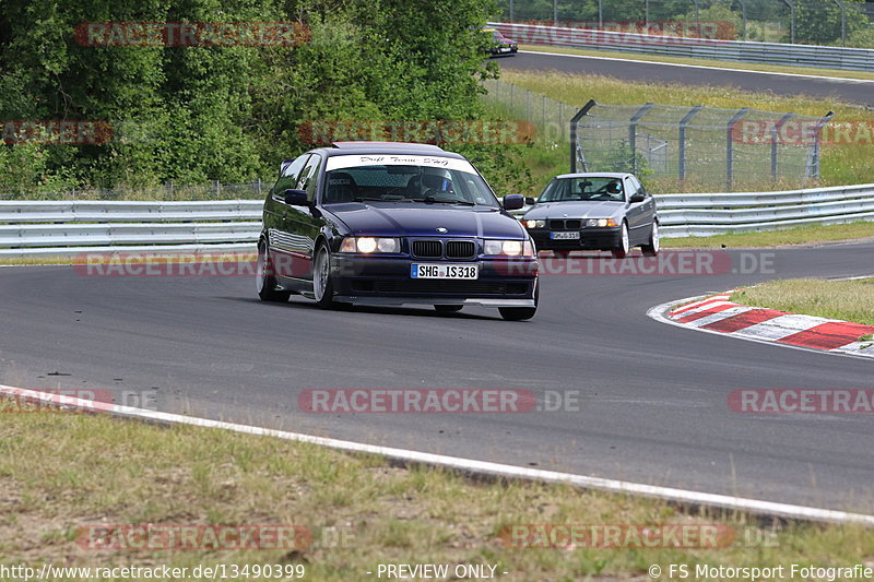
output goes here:
[{"label": "grey asphalt of the lower track under the leading BMW", "polygon": [[[872,389],[874,363],[646,316],[653,305],[758,281],[870,274],[872,253],[872,242],[732,250],[723,274],[548,274],[538,316],[516,323],[484,308],[438,316],[323,311],[303,298],[268,305],[249,277],[0,268],[0,382],[145,391],[170,412],[874,513],[874,416],[739,414],[727,404],[736,389]],[[578,391],[580,407],[468,415],[299,408],[302,391],[338,388]]]}]

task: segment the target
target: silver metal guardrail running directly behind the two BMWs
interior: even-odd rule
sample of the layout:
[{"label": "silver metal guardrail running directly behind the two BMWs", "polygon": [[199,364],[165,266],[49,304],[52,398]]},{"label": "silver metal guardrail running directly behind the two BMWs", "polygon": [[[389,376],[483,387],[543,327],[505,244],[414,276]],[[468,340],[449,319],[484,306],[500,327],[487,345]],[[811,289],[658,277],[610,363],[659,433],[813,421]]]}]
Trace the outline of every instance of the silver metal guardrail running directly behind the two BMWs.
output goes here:
[{"label": "silver metal guardrail running directly behind the two BMWs", "polygon": [[[262,204],[258,200],[0,202],[0,258],[253,251]],[[874,221],[874,183],[764,193],[656,194],[656,204],[665,238],[776,230]]]}]

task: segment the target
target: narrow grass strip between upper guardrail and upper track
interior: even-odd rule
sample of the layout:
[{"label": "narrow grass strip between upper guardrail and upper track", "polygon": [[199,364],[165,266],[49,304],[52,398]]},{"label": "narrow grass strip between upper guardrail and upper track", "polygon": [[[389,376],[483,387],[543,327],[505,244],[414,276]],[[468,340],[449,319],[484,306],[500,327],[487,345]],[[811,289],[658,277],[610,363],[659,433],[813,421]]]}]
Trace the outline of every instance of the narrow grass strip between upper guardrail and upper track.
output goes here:
[{"label": "narrow grass strip between upper guardrail and upper track", "polygon": [[813,76],[834,76],[838,79],[860,79],[874,81],[874,72],[845,71],[842,69],[787,67],[779,64],[757,64],[748,62],[721,61],[716,59],[690,59],[672,57],[669,55],[638,55],[635,52],[621,52],[616,50],[594,50],[567,47],[546,47],[539,45],[519,45],[519,48],[529,52],[557,52],[562,55],[580,55],[583,57],[604,57],[611,59],[638,60],[648,62],[669,62],[674,64],[694,64],[698,67],[713,67],[719,69],[739,69],[742,71],[763,71],[771,73],[793,73]]}]

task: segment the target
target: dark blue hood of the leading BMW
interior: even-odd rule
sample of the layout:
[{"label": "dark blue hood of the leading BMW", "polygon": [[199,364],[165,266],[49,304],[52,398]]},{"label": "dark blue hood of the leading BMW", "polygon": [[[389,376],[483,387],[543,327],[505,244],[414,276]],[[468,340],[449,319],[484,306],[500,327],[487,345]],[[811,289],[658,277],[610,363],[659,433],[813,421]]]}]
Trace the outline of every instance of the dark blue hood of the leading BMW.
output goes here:
[{"label": "dark blue hood of the leading BMW", "polygon": [[[519,221],[487,209],[458,209],[440,204],[401,206],[349,203],[332,204],[324,210],[345,224],[352,235],[517,239],[527,237]],[[437,228],[440,227],[447,231],[438,233]]]}]

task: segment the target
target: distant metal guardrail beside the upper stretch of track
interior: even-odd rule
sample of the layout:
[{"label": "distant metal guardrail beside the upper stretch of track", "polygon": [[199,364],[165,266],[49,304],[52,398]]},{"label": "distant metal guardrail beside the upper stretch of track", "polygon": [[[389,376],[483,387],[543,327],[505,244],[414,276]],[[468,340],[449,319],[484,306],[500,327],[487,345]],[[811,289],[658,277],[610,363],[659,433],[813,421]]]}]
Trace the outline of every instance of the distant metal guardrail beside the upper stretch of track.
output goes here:
[{"label": "distant metal guardrail beside the upper stretch of track", "polygon": [[533,24],[488,23],[520,44],[578,47],[643,55],[874,71],[874,49],[718,40]]}]

